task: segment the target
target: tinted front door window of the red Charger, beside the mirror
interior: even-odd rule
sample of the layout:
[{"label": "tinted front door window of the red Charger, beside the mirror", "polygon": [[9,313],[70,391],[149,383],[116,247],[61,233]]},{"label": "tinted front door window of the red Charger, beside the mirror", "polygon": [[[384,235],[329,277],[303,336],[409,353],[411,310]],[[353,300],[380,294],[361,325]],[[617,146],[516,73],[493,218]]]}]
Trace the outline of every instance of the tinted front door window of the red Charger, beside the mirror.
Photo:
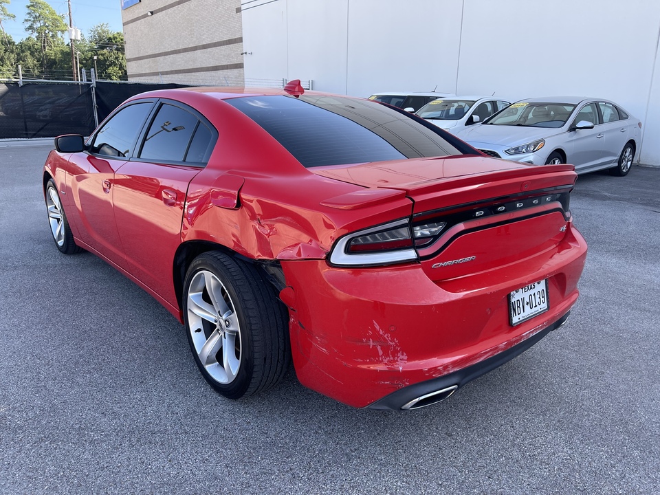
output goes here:
[{"label": "tinted front door window of the red Charger, beside the mirror", "polygon": [[115,113],[94,137],[91,151],[98,155],[131,156],[137,134],[151,111],[151,105],[151,102],[131,104]]}]

